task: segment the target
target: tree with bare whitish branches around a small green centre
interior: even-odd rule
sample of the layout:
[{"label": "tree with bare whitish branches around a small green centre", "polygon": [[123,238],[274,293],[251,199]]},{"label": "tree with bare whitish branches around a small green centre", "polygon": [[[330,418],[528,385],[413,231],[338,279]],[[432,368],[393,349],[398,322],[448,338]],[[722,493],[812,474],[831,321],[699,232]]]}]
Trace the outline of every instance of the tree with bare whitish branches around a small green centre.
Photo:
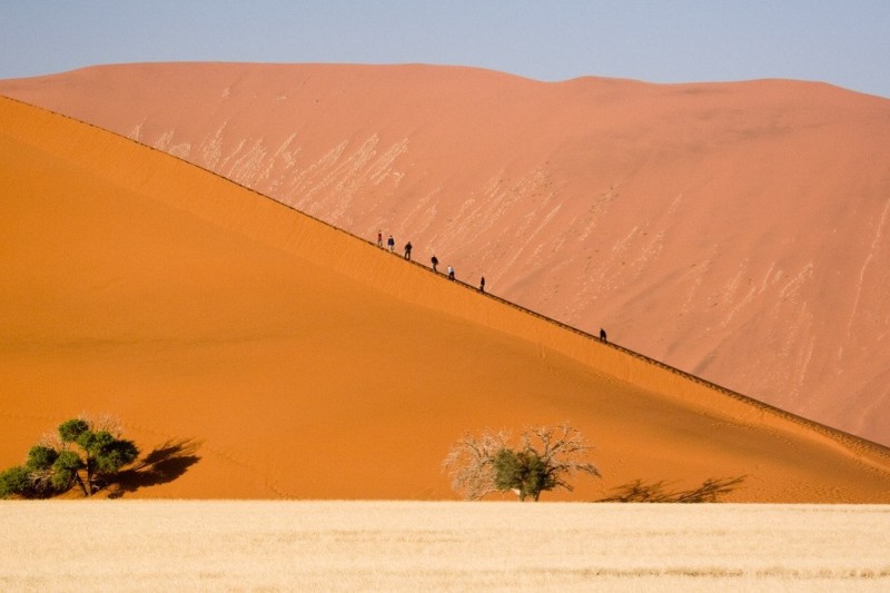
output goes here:
[{"label": "tree with bare whitish branches around a small green centre", "polygon": [[568,477],[574,472],[600,475],[592,463],[583,461],[591,446],[567,423],[555,428],[526,428],[515,449],[507,441],[504,432],[486,431],[478,438],[465,433],[443,462],[451,473],[452,487],[467,500],[510,490],[521,501],[530,496],[537,501],[543,491],[571,491]]}]

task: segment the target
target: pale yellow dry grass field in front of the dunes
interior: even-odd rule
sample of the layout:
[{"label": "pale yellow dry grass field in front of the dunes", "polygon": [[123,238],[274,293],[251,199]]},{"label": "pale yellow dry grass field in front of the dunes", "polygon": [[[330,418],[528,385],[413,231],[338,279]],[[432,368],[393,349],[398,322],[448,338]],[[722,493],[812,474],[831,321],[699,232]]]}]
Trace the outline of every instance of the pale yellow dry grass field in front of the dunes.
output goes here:
[{"label": "pale yellow dry grass field in front of the dunes", "polygon": [[0,504],[2,591],[888,591],[888,505]]}]

